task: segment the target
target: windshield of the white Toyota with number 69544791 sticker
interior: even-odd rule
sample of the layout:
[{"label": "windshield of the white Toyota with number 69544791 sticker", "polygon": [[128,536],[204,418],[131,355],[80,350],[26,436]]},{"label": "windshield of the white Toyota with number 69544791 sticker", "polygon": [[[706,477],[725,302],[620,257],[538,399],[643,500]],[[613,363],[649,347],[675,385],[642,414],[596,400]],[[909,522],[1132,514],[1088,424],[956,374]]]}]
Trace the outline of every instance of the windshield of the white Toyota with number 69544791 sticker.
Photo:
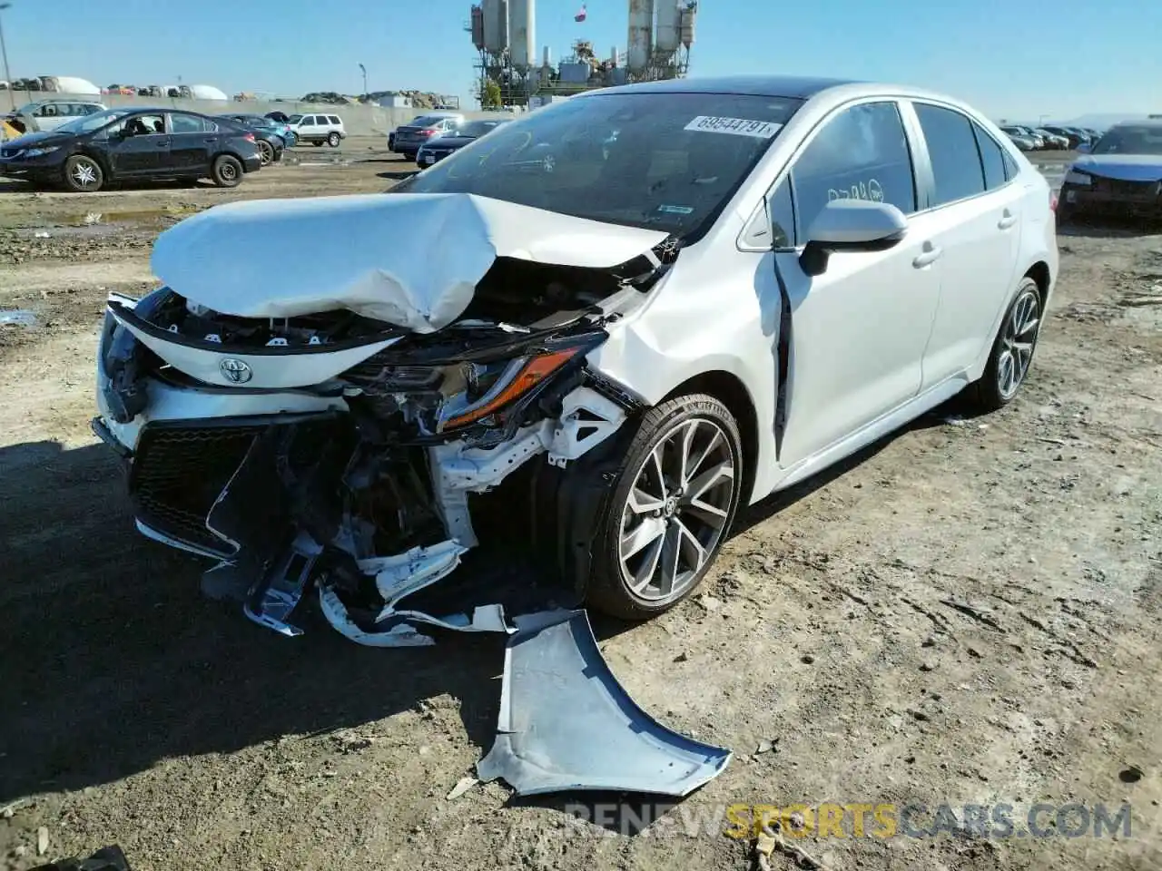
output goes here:
[{"label": "windshield of the white Toyota with number 69544791 sticker", "polygon": [[502,124],[400,193],[465,193],[697,238],[802,100],[751,94],[579,96]]}]

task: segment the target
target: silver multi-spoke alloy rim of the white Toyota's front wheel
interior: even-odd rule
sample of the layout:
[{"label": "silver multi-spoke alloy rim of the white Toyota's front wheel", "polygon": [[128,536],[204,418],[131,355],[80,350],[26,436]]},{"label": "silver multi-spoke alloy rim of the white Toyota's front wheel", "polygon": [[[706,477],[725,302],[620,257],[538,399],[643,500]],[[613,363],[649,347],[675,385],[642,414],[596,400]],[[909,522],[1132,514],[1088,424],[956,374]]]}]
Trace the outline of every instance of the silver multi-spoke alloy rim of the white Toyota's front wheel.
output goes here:
[{"label": "silver multi-spoke alloy rim of the white Toyota's front wheel", "polygon": [[682,596],[722,540],[734,498],[734,458],[712,420],[691,418],[659,438],[622,510],[622,580],[648,602]]}]

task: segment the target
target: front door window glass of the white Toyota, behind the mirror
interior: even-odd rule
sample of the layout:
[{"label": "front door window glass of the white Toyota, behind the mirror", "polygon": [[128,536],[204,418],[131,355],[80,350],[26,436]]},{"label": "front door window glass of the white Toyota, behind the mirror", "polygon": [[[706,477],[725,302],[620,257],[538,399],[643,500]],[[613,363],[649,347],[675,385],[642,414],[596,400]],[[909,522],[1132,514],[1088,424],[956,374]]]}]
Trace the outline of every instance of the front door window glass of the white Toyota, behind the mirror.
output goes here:
[{"label": "front door window glass of the white Toyota, behind the mirror", "polygon": [[895,102],[861,103],[827,121],[791,168],[799,236],[831,200],[916,211],[916,177]]}]

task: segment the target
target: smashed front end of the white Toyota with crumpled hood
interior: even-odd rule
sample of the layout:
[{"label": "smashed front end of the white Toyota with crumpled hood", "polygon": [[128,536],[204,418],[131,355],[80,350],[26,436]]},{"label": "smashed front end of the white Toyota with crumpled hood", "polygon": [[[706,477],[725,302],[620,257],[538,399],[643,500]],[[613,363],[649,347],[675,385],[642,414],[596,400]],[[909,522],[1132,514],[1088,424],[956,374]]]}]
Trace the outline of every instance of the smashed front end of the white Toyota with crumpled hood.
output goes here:
[{"label": "smashed front end of the white Toyota with crumpled hood", "polygon": [[[431,197],[351,199],[363,223],[383,200],[407,199],[435,221]],[[210,268],[211,290],[205,271],[188,281],[186,271],[229,257],[223,238],[279,231],[293,246],[301,221],[317,217],[297,204],[289,222],[221,207],[222,221],[210,221],[214,209],[159,239],[155,272],[167,287],[138,302],[110,297],[94,430],[127,461],[138,528],[214,557],[203,589],[243,600],[263,626],[300,634],[292,612],[314,589],[331,626],[364,645],[428,645],[426,626],[511,632],[500,604],[431,613],[408,600],[478,545],[469,495],[543,454],[568,466],[638,408],[586,358],[665,274],[672,240],[624,229],[623,251],[626,233],[648,247],[602,262],[559,239],[608,225],[568,218],[543,228],[555,236],[538,254],[536,238],[505,246],[510,231],[496,224],[511,216],[494,214],[537,210],[465,199],[436,209],[445,232],[459,219],[469,255],[433,267],[435,283],[409,280],[416,254],[393,247],[332,268],[318,310],[301,281],[263,295],[244,268]],[[571,257],[571,246],[587,253]],[[546,251],[566,262],[536,259]]]}]

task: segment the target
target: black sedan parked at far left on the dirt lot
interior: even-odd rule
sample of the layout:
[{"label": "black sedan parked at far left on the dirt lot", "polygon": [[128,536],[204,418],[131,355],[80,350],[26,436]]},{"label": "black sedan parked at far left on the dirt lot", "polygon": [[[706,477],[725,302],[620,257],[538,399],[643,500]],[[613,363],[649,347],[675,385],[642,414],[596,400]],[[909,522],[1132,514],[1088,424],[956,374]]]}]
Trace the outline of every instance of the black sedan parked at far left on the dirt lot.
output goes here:
[{"label": "black sedan parked at far left on the dirt lot", "polygon": [[91,193],[110,181],[210,178],[263,165],[254,134],[195,111],[116,108],[0,146],[0,175]]}]

